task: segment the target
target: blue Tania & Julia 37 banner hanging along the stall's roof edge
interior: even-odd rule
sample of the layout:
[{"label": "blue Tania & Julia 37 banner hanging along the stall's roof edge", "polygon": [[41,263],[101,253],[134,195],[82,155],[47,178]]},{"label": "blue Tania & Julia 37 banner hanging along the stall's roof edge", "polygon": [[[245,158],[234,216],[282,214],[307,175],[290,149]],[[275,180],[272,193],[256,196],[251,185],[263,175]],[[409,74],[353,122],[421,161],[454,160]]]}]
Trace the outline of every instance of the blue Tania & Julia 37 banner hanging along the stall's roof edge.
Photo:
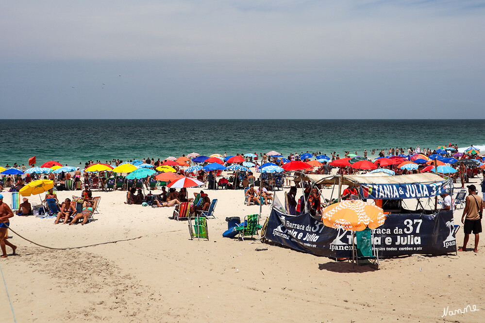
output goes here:
[{"label": "blue Tania & Julia 37 banner hanging along the stall's roof edge", "polygon": [[403,199],[450,194],[449,182],[431,184],[361,184],[360,196],[371,199]]}]

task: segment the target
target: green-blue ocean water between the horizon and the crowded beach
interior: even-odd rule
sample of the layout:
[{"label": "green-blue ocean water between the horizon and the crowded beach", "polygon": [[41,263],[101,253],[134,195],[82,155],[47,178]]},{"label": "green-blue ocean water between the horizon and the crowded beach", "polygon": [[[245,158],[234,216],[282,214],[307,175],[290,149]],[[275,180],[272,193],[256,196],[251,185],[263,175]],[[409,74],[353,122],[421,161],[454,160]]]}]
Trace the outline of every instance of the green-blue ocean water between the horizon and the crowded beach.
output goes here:
[{"label": "green-blue ocean water between the horizon and the crowded beach", "polygon": [[[0,165],[123,161],[197,152],[228,156],[276,150],[362,155],[450,142],[485,149],[485,120],[1,120]],[[378,154],[378,151],[376,152]],[[330,156],[330,155],[329,155]]]}]

